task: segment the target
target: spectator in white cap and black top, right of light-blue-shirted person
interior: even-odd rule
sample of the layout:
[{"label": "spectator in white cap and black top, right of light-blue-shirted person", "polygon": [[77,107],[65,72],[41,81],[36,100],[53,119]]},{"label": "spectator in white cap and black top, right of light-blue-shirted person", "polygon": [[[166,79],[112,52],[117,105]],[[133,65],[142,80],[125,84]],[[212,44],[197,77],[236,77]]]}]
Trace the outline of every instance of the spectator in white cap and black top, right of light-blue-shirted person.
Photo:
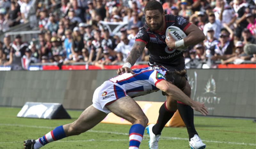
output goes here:
[{"label": "spectator in white cap and black top, right of light-blue-shirted person", "polygon": [[84,48],[83,35],[80,34],[78,27],[75,27],[73,29],[72,48],[73,48],[73,51],[75,53],[79,53],[79,55],[81,54],[81,51]]}]

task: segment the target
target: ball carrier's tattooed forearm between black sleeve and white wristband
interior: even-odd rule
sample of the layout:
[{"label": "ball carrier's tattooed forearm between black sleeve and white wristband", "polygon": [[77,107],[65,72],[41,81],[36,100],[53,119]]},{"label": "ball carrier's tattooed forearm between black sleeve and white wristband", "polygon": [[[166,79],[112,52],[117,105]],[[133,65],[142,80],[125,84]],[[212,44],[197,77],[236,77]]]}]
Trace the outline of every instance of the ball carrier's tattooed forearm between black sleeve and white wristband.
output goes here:
[{"label": "ball carrier's tattooed forearm between black sleeve and white wristband", "polygon": [[132,50],[128,57],[125,60],[125,63],[130,63],[132,66],[135,64],[137,59],[139,59],[140,55],[142,54],[146,44],[140,41],[135,41],[132,46]]}]

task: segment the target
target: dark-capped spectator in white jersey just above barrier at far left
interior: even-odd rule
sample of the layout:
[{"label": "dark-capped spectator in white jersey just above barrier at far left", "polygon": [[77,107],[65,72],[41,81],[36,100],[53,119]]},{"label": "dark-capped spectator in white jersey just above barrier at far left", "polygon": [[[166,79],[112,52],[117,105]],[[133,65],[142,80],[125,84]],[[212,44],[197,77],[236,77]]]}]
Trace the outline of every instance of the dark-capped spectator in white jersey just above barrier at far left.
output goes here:
[{"label": "dark-capped spectator in white jersey just above barrier at far left", "polygon": [[31,63],[37,63],[38,59],[32,57],[32,51],[29,48],[26,48],[25,55],[21,58],[22,68],[25,70],[29,70],[29,66]]}]

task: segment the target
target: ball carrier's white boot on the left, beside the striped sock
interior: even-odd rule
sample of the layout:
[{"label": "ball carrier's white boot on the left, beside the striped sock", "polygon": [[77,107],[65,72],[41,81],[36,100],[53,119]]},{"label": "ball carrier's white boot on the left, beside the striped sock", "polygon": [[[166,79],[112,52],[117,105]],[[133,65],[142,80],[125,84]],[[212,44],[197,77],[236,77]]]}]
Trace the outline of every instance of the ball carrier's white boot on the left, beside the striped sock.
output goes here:
[{"label": "ball carrier's white boot on the left, beside the striped sock", "polygon": [[147,129],[147,134],[149,135],[148,146],[149,149],[158,149],[158,140],[160,135],[155,135],[152,131],[154,124],[149,124]]}]

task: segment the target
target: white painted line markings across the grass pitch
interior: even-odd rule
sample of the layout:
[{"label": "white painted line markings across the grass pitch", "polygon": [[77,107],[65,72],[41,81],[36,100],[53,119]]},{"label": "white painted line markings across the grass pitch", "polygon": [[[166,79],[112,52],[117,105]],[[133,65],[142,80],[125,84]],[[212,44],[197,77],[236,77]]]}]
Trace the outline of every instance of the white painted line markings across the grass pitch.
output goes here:
[{"label": "white painted line markings across the grass pitch", "polygon": [[[0,126],[16,126],[16,127],[29,127],[29,128],[46,128],[46,129],[54,129],[55,127],[46,127],[46,126],[33,126],[33,125],[18,125],[18,124],[1,124]],[[116,135],[129,135],[128,133],[120,133],[120,132],[112,132],[112,131],[97,131],[97,130],[88,130],[87,132],[97,132],[97,133],[109,133]],[[149,136],[144,136],[144,138],[149,138]],[[180,137],[161,137],[161,140],[188,140],[188,138],[180,138]],[[111,139],[111,140],[70,140],[70,141],[57,141],[57,142],[90,142],[90,141],[128,141],[128,139]],[[212,141],[212,140],[202,140],[204,142],[211,143],[227,143],[227,144],[235,144],[235,145],[252,145],[256,146],[256,144],[252,143],[239,143],[239,142],[222,142],[222,141]],[[20,142],[0,142],[0,144],[4,143],[20,143]]]}]

